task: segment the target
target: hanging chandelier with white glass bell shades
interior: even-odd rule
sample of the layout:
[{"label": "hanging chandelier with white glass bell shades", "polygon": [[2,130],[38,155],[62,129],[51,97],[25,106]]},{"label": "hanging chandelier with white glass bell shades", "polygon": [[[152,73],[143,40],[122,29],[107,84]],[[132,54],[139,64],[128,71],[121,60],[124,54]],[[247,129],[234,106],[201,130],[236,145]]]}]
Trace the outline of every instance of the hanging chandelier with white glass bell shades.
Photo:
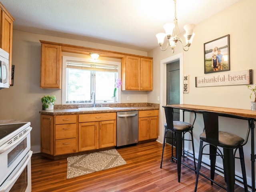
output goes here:
[{"label": "hanging chandelier with white glass bell shades", "polygon": [[[184,35],[186,39],[186,44],[184,45],[182,42],[182,39],[180,38],[180,29],[178,27],[178,20],[176,16],[176,0],[174,0],[174,8],[175,8],[175,18],[174,18],[174,23],[167,23],[164,25],[164,30],[165,33],[158,33],[156,34],[156,38],[158,40],[158,44],[161,48],[162,51],[165,51],[168,48],[168,45],[172,48],[172,53],[174,53],[174,48],[176,46],[176,43],[179,41],[182,43],[182,47],[184,51],[188,51],[192,39],[194,37],[193,29],[194,29],[194,24],[187,24],[184,26],[184,29],[186,31],[186,34]],[[164,38],[167,38],[168,43],[166,45],[165,49],[162,49],[162,45],[164,43]]]}]

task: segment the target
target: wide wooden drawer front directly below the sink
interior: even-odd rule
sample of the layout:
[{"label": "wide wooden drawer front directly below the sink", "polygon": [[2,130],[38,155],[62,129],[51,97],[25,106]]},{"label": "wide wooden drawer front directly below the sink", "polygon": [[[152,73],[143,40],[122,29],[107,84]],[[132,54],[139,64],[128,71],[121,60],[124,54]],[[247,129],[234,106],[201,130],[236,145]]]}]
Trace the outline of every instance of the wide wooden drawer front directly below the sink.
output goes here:
[{"label": "wide wooden drawer front directly below the sink", "polygon": [[79,122],[116,120],[116,113],[92,113],[78,116]]}]

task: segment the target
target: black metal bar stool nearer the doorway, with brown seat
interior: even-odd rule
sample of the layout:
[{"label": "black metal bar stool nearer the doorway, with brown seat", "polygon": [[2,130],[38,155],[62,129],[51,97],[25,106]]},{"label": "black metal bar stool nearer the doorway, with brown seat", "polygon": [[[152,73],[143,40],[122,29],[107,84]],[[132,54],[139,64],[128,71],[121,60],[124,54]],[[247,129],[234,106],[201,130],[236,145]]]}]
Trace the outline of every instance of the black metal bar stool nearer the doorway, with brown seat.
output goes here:
[{"label": "black metal bar stool nearer the doorway, with brown seat", "polygon": [[[173,108],[170,106],[162,106],[165,111],[166,116],[166,124],[164,124],[164,142],[163,142],[163,149],[162,149],[162,160],[160,168],[162,168],[162,162],[163,162],[163,155],[164,155],[164,146],[165,146],[165,140],[166,140],[166,133],[168,131],[172,132],[172,134],[175,137],[175,143],[176,143],[176,158],[173,156],[173,146],[172,146],[172,160],[177,160],[177,172],[178,172],[178,182],[180,182],[180,172],[181,172],[181,157],[182,157],[182,141],[184,141],[184,134],[190,133],[191,135],[191,141],[192,142],[192,149],[193,149],[193,158],[194,158],[194,166],[196,170],[196,161],[195,161],[195,150],[194,150],[194,140],[193,140],[193,125],[196,120],[196,112],[195,118],[192,124],[189,124],[187,122],[183,121],[173,121]],[[173,140],[172,140],[173,141]]]}]

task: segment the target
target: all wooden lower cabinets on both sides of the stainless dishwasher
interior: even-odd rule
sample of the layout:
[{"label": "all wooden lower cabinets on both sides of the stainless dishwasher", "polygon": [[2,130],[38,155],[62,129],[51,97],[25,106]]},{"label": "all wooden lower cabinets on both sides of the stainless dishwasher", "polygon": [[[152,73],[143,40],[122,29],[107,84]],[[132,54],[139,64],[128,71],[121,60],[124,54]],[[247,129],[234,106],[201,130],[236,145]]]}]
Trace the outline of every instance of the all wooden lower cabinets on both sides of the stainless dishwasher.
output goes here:
[{"label": "all wooden lower cabinets on both sides of the stainless dishwasher", "polygon": [[[138,140],[158,138],[158,110],[139,111]],[[41,114],[41,152],[50,157],[116,146],[116,112]]]}]

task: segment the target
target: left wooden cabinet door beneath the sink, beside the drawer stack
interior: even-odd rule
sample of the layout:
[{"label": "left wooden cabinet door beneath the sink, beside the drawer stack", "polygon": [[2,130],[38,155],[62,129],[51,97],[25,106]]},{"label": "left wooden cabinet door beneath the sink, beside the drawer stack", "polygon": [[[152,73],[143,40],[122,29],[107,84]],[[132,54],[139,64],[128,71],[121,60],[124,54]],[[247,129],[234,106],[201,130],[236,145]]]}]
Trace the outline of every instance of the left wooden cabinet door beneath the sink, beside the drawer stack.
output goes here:
[{"label": "left wooden cabinet door beneath the sink, beside the drawer stack", "polygon": [[86,151],[99,148],[99,122],[79,123],[78,150]]}]

